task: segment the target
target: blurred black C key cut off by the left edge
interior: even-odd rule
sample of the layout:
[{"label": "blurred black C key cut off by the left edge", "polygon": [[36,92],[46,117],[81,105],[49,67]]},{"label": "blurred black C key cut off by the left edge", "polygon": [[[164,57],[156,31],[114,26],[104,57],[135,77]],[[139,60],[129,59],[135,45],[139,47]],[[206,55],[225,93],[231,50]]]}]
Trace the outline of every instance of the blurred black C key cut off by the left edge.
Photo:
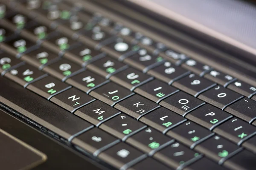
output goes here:
[{"label": "blurred black C key cut off by the left edge", "polygon": [[0,74],[3,76],[6,71],[15,65],[19,65],[21,62],[20,59],[17,59],[6,52],[0,52]]}]

